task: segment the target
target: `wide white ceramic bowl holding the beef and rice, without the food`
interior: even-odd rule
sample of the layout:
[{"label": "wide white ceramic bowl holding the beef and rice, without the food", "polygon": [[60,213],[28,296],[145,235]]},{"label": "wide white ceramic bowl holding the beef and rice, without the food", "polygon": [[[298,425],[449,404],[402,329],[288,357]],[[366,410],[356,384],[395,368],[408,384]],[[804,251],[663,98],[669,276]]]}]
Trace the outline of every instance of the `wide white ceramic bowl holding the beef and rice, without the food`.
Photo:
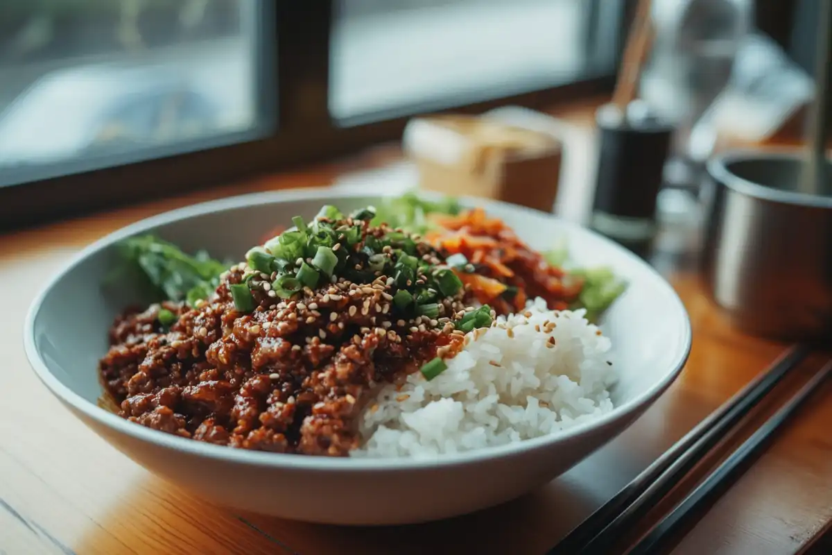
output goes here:
[{"label": "wide white ceramic bowl holding the beef and rice, without the food", "polygon": [[122,453],[214,503],[319,523],[392,524],[468,513],[547,483],[626,429],[685,364],[691,346],[686,310],[650,266],[542,212],[468,199],[463,204],[484,206],[533,247],[547,249],[565,235],[578,263],[611,265],[629,280],[601,323],[621,373],[611,413],[549,437],[414,461],[225,448],[147,429],[97,406],[97,361],[106,352],[106,330],[119,310],[137,300],[129,286],[102,289],[116,262],[117,241],[152,230],[186,250],[206,248],[240,260],[264,232],[291,216],[311,218],[322,204],[349,211],[374,201],[327,190],[256,194],[189,206],[116,231],[83,250],[32,304],[25,333],[32,367],[72,414]]}]

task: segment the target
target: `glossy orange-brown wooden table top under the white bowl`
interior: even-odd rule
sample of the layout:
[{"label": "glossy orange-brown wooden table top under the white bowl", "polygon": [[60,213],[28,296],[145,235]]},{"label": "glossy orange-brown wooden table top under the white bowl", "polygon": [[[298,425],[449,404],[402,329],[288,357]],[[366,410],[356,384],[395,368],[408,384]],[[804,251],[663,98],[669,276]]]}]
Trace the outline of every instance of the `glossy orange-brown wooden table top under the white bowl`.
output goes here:
[{"label": "glossy orange-brown wooden table top under the white bowl", "polygon": [[[592,138],[576,131],[569,141],[563,183],[585,190],[595,156]],[[204,503],[93,434],[30,369],[22,347],[28,306],[48,276],[92,240],[176,206],[242,192],[319,186],[378,164],[379,156],[368,155],[0,238],[5,360],[0,554],[544,553],[785,349],[732,330],[703,292],[689,259],[666,258],[661,270],[690,312],[693,349],[680,378],[647,414],[535,493],[461,518],[395,528],[293,523]],[[801,369],[803,377],[819,366],[819,359],[811,360]],[[679,538],[674,553],[795,553],[824,528],[832,519],[832,403],[823,397],[815,396],[716,506]],[[759,423],[764,417],[755,418]]]}]

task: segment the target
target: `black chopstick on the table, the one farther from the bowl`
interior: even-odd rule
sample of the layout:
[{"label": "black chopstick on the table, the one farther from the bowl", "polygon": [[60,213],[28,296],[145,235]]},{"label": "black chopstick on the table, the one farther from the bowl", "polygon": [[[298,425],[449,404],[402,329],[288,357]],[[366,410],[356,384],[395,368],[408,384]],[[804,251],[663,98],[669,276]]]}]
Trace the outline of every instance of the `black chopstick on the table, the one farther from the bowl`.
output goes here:
[{"label": "black chopstick on the table, the one farther from the bowl", "polygon": [[782,409],[778,410],[765,424],[760,426],[754,434],[746,439],[730,457],[721,463],[696,489],[687,495],[681,503],[676,505],[671,513],[662,518],[641,541],[627,552],[627,555],[641,555],[642,553],[659,553],[666,548],[666,543],[685,525],[687,519],[711,502],[722,489],[727,488],[742,472],[743,465],[750,458],[760,452],[769,440],[780,429],[809,396],[818,389],[824,380],[832,373],[832,361],[828,362],[820,372],[800,388],[794,397],[789,399]]}]

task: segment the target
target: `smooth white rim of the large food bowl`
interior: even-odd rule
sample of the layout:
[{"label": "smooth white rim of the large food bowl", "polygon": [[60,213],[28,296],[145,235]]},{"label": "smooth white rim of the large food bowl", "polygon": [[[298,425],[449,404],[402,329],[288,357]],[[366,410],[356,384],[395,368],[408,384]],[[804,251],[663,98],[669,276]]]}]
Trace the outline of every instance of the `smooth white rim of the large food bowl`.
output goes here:
[{"label": "smooth white rim of the large food bowl", "polygon": [[[419,196],[423,197],[437,197],[435,194],[423,194],[418,191]],[[389,195],[392,196],[392,195]],[[610,248],[618,250],[621,254],[630,258],[636,264],[641,265],[643,269],[652,273],[671,293],[671,298],[677,305],[677,309],[682,315],[681,334],[685,344],[684,349],[676,354],[673,368],[656,384],[651,385],[644,393],[631,399],[626,403],[615,407],[607,414],[602,414],[597,419],[592,419],[585,423],[577,424],[572,428],[562,430],[557,434],[547,434],[538,438],[524,439],[513,444],[498,445],[486,448],[475,449],[472,451],[465,451],[462,453],[448,453],[438,456],[437,458],[370,458],[370,457],[314,457],[302,456],[290,453],[267,453],[260,451],[252,451],[248,449],[228,448],[222,445],[207,444],[193,439],[180,438],[172,434],[146,428],[140,424],[134,424],[126,419],[122,419],[117,414],[113,414],[106,409],[102,409],[97,404],[84,399],[80,394],[62,384],[52,372],[48,369],[47,364],[42,359],[35,344],[35,320],[38,312],[48,295],[49,291],[63,279],[69,271],[74,269],[83,260],[87,259],[89,255],[102,250],[119,240],[128,236],[136,235],[141,231],[148,230],[157,225],[164,225],[174,221],[182,221],[194,216],[203,216],[219,211],[226,211],[236,208],[245,208],[245,206],[255,206],[259,204],[275,204],[289,201],[312,201],[321,200],[328,202],[337,202],[339,199],[348,200],[350,198],[361,197],[377,197],[383,198],[384,195],[368,194],[361,191],[334,191],[331,187],[310,187],[294,190],[283,191],[266,191],[256,192],[239,196],[230,196],[214,201],[206,201],[190,206],[183,206],[173,211],[166,211],[156,216],[145,218],[141,221],[136,221],[131,225],[126,225],[119,230],[105,235],[99,240],[96,240],[91,245],[87,245],[84,249],[75,255],[72,260],[63,265],[61,270],[58,270],[55,275],[48,280],[46,285],[42,286],[41,292],[37,295],[35,300],[30,305],[24,328],[24,348],[38,379],[47,386],[57,399],[62,400],[63,403],[70,405],[72,409],[85,415],[88,419],[92,419],[98,424],[102,424],[109,429],[113,429],[119,434],[125,434],[131,439],[136,439],[142,442],[148,442],[156,445],[156,447],[172,449],[175,451],[184,452],[192,456],[210,458],[218,462],[225,463],[240,463],[248,466],[258,468],[284,468],[292,470],[321,470],[321,471],[337,471],[337,472],[363,472],[367,470],[389,470],[389,471],[409,471],[409,470],[424,470],[429,468],[443,468],[457,465],[465,465],[470,463],[483,462],[491,458],[503,458],[519,456],[522,453],[528,453],[538,448],[542,448],[549,444],[557,444],[575,438],[579,435],[586,434],[592,430],[602,429],[614,422],[626,419],[629,416],[638,416],[643,409],[649,407],[659,395],[670,387],[673,381],[676,380],[681,373],[681,369],[686,364],[688,356],[691,352],[691,320],[687,313],[685,305],[676,294],[669,283],[650,265],[626,250],[624,247],[615,244],[612,240],[599,235],[592,230],[588,230],[582,225],[570,221],[560,219],[560,223],[567,229],[568,233],[584,233],[595,235],[596,238],[607,242]],[[502,206],[504,209],[513,211],[527,212],[529,214],[545,214],[540,211],[535,211],[523,206],[510,205],[501,201],[490,201],[480,198],[473,198],[469,196],[459,196],[460,201],[468,201],[469,203],[476,203],[478,206],[483,206],[488,211],[489,206]],[[551,215],[552,218],[557,216]],[[88,423],[87,423],[88,424]]]}]

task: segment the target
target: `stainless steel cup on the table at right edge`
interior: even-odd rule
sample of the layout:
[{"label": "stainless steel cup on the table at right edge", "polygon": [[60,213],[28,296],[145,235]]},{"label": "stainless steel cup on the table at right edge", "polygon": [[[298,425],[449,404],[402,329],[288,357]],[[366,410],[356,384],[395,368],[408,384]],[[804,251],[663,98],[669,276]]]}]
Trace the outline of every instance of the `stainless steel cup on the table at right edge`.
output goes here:
[{"label": "stainless steel cup on the table at right edge", "polygon": [[[750,334],[832,346],[832,184],[797,192],[796,151],[712,159],[703,190],[703,270],[716,303]],[[832,176],[827,161],[827,179]]]}]

